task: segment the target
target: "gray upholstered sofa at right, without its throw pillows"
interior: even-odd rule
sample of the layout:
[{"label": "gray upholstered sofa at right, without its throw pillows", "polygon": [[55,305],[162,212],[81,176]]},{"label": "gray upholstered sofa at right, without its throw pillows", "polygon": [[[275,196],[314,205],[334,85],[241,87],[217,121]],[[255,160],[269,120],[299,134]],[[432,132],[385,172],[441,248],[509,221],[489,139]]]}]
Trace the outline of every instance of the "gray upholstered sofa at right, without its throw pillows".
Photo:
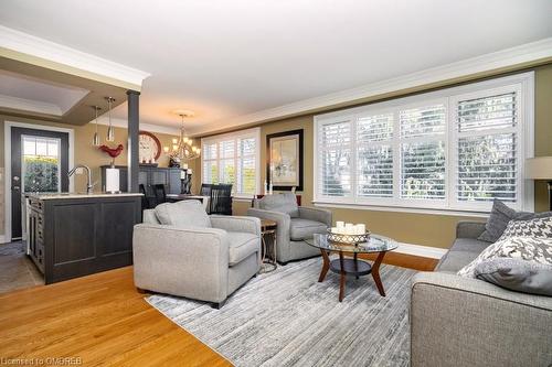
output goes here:
[{"label": "gray upholstered sofa at right, without its throw pillows", "polygon": [[456,272],[490,242],[463,222],[435,272],[414,277],[411,366],[551,366],[552,298],[517,293]]}]

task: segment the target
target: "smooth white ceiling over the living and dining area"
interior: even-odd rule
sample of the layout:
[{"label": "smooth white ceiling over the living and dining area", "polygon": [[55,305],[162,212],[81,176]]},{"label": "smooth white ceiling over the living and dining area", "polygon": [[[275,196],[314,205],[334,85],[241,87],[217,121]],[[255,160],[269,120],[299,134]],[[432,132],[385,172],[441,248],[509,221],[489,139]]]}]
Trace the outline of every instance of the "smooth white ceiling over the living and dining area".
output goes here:
[{"label": "smooth white ceiling over the living and dining area", "polygon": [[[140,121],[191,133],[552,36],[550,0],[2,0],[0,24],[150,73]],[[1,91],[0,91],[1,93]],[[126,105],[115,110],[126,119]]]}]

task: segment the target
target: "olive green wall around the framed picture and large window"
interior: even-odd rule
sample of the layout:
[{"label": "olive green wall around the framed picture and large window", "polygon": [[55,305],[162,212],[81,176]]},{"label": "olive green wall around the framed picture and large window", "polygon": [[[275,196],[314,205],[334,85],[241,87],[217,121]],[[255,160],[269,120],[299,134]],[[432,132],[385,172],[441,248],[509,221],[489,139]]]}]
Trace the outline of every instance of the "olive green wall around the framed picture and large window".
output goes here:
[{"label": "olive green wall around the framed picture and large window", "polygon": [[[552,64],[533,68],[535,72],[535,155],[552,155]],[[305,129],[305,191],[304,205],[312,205],[312,129],[314,115],[274,121],[261,125],[262,147],[261,162],[264,164],[266,154],[266,134]],[[266,170],[262,166],[261,182],[264,182]],[[194,186],[200,185],[199,175],[195,175]],[[248,202],[234,202],[234,213],[246,213]],[[535,184],[535,211],[548,211],[548,191],[543,182]],[[365,223],[370,230],[395,238],[399,241],[448,248],[455,237],[455,226],[459,220],[485,220],[466,216],[415,214],[400,212],[379,212],[364,209],[333,208],[333,218]]]}]

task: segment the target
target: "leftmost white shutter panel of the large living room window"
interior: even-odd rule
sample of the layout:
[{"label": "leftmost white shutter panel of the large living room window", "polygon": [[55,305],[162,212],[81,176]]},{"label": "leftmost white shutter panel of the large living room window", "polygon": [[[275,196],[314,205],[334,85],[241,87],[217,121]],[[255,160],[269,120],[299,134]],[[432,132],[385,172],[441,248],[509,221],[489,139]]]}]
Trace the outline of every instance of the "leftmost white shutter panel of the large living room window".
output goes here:
[{"label": "leftmost white shutter panel of the large living room window", "polygon": [[327,121],[318,134],[318,190],[325,196],[351,196],[352,122],[349,119]]}]

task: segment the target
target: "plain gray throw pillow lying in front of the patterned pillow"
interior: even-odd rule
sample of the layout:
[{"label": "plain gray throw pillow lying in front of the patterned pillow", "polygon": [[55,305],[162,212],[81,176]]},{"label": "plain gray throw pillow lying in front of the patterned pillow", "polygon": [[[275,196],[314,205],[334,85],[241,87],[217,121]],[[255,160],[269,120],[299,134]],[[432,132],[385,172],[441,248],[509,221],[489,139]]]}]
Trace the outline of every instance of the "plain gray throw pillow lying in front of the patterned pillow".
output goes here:
[{"label": "plain gray throw pillow lying in front of the patterned pillow", "polygon": [[482,261],[475,268],[477,279],[516,292],[552,296],[552,266],[511,258]]}]

